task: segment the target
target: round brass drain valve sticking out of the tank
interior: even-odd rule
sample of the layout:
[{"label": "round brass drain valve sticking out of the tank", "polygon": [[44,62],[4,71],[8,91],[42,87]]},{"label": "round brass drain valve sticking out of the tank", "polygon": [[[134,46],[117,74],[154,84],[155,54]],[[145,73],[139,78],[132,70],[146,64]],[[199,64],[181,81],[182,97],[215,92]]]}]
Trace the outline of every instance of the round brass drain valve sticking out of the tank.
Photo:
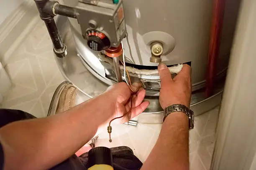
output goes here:
[{"label": "round brass drain valve sticking out of the tank", "polygon": [[161,59],[162,54],[163,54],[163,45],[160,42],[153,42],[151,44],[150,62],[160,63],[162,61]]}]

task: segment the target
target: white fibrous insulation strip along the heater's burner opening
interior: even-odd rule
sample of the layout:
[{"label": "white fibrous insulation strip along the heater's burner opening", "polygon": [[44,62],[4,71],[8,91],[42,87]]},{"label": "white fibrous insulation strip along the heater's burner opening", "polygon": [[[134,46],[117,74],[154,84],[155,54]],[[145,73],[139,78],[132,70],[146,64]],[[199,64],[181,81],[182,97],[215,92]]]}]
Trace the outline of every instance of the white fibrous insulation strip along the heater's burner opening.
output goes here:
[{"label": "white fibrous insulation strip along the heater's burner opening", "polygon": [[[123,65],[120,65],[121,69],[123,70]],[[172,67],[168,67],[171,73],[179,73],[182,70],[183,64],[175,65]],[[154,75],[158,74],[158,70],[139,70],[134,67],[126,66],[126,69],[129,73],[133,75]]]}]

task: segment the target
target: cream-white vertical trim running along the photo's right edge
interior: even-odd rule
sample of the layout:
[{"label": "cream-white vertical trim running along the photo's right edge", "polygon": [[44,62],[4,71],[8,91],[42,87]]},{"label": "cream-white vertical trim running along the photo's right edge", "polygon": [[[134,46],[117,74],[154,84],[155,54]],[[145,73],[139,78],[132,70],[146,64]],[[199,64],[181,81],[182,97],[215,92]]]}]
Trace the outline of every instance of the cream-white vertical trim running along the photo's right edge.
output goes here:
[{"label": "cream-white vertical trim running along the photo's right edge", "polygon": [[243,0],[211,170],[256,170],[256,0]]}]

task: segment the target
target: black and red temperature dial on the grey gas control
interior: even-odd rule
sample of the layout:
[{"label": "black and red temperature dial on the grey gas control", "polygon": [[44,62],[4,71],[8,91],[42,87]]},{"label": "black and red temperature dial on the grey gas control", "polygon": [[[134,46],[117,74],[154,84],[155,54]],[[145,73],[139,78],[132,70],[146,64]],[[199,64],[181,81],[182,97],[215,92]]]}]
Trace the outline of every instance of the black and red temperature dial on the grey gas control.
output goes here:
[{"label": "black and red temperature dial on the grey gas control", "polygon": [[95,51],[107,50],[110,47],[109,38],[102,32],[97,30],[89,30],[86,32],[87,45]]}]

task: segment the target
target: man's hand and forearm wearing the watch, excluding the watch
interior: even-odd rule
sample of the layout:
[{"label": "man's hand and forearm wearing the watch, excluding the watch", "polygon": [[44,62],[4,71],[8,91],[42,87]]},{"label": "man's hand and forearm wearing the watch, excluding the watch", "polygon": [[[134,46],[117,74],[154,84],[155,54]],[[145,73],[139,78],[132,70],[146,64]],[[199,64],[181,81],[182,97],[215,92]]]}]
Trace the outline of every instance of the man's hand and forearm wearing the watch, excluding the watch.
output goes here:
[{"label": "man's hand and forearm wearing the watch, excluding the watch", "polygon": [[[161,78],[159,101],[163,109],[182,104],[189,107],[191,97],[191,68],[184,65],[172,79],[164,64],[158,66]],[[189,170],[188,117],[174,112],[164,120],[159,138],[141,170]]]}]

